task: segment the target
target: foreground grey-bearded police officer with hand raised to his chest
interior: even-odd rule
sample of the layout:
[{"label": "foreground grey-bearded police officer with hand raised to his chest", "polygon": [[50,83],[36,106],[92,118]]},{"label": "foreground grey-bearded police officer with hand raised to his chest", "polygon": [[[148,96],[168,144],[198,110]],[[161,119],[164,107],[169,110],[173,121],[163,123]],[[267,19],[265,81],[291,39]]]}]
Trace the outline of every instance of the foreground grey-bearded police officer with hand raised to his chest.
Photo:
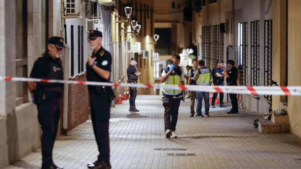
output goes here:
[{"label": "foreground grey-bearded police officer with hand raised to his chest", "polygon": [[[111,54],[102,47],[102,32],[91,30],[89,36],[92,56],[88,56],[87,80],[109,82],[112,65]],[[111,101],[114,94],[111,87],[88,86],[91,96],[91,117],[96,143],[98,159],[89,163],[88,168],[110,169],[109,118]]]}]

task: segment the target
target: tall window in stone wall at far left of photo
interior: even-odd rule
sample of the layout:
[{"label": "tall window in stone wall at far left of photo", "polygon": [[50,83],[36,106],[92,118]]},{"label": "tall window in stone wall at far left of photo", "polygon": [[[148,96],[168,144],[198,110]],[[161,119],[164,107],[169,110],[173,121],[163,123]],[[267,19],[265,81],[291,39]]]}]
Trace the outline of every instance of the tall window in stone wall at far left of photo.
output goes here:
[{"label": "tall window in stone wall at far left of photo", "polygon": [[[16,77],[27,78],[27,1],[16,1]],[[27,82],[16,82],[16,106],[28,101]]]}]

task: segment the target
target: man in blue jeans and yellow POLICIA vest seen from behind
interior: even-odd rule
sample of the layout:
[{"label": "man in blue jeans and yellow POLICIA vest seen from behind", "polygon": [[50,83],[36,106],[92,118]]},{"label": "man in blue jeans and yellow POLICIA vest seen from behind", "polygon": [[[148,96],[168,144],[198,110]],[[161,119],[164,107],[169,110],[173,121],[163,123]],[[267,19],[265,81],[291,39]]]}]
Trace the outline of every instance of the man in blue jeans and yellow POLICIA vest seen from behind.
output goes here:
[{"label": "man in blue jeans and yellow POLICIA vest seen from behind", "polygon": [[[195,72],[194,78],[197,81],[197,85],[210,86],[211,85],[211,69],[205,66],[203,60],[197,62],[200,69]],[[195,117],[203,117],[202,115],[202,100],[205,101],[205,117],[209,117],[209,92],[197,91],[197,115]]]}]

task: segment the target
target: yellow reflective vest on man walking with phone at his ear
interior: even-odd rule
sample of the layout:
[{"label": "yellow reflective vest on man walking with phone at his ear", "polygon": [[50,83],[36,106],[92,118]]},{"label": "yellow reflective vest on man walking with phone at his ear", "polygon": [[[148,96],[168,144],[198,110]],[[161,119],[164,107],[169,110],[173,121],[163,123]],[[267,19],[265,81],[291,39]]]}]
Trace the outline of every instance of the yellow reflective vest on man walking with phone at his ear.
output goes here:
[{"label": "yellow reflective vest on man walking with phone at his ear", "polygon": [[[169,72],[169,66],[166,66],[163,70],[167,73]],[[171,85],[181,85],[181,75],[182,75],[182,67],[178,66],[177,69],[174,69],[174,74],[170,74],[168,79],[163,82],[163,85],[171,84]],[[182,90],[174,90],[174,89],[162,89],[163,97],[180,97],[182,95]]]}]

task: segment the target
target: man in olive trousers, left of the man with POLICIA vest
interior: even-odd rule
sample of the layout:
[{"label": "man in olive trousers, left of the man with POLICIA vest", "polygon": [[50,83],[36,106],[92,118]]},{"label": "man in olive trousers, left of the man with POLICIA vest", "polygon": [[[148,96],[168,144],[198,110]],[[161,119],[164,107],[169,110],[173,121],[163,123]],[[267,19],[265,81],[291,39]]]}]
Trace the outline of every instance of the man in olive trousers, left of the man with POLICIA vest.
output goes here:
[{"label": "man in olive trousers, left of the man with POLICIA vest", "polygon": [[[193,67],[194,68],[190,69],[189,72],[188,72],[188,84],[197,85],[197,81],[195,81],[194,78],[193,78],[195,72],[198,69],[197,60],[194,60]],[[189,92],[188,90],[186,90],[186,91],[185,91],[186,93]],[[190,114],[191,114],[189,117],[194,117],[194,113],[195,113],[195,111],[194,111],[194,101],[197,97],[197,92],[196,91],[190,91],[189,95],[190,95]]]}]

